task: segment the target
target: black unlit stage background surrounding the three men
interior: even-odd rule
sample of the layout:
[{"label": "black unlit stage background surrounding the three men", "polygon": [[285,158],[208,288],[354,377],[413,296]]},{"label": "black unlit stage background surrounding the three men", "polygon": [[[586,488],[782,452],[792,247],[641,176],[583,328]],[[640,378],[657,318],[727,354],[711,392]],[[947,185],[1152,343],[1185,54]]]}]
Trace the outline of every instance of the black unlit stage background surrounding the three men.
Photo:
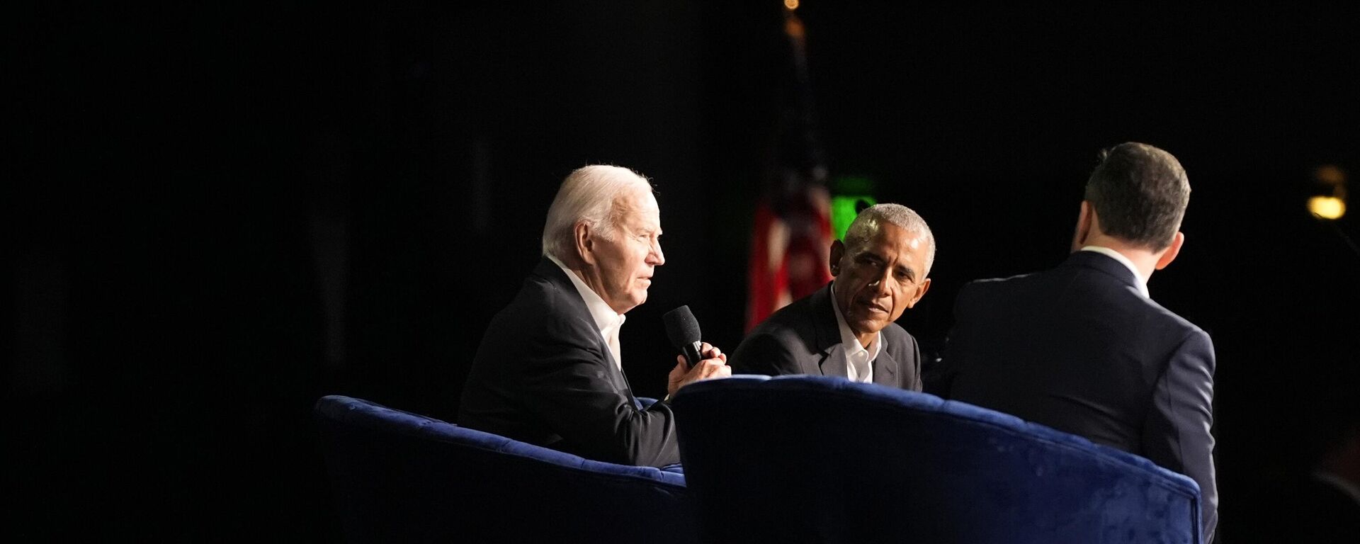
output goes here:
[{"label": "black unlit stage background surrounding the three men", "polygon": [[[12,14],[16,534],[337,537],[311,404],[456,403],[586,163],[660,192],[668,262],[623,330],[639,393],[673,364],[665,310],[736,348],[789,82],[781,4],[407,4]],[[1357,8],[798,14],[832,177],[936,233],[933,287],[900,320],[930,350],[962,283],[1064,258],[1099,148],[1182,160],[1187,243],[1151,291],[1213,336],[1221,534],[1251,541],[1360,404],[1356,212],[1303,207],[1316,166],[1360,173]]]}]

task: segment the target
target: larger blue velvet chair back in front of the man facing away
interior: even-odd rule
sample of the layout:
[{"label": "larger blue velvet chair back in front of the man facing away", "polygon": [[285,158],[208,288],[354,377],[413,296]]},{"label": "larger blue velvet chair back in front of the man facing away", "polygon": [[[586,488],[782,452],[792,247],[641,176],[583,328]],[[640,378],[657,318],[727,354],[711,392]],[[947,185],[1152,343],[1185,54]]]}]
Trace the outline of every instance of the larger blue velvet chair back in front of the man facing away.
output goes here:
[{"label": "larger blue velvet chair back in front of the man facing away", "polygon": [[1200,543],[1194,480],[975,405],[738,375],[672,407],[706,541]]}]

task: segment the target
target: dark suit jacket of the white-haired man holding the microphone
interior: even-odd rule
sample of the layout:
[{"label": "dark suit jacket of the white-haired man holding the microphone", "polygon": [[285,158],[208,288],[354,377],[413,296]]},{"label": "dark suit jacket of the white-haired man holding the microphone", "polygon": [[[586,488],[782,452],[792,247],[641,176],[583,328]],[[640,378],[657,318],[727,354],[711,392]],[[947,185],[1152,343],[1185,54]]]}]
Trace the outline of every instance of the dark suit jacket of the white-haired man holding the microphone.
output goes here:
[{"label": "dark suit jacket of the white-haired man holding the microphone", "polygon": [[581,294],[548,258],[487,326],[458,424],[597,461],[680,462],[670,408],[641,407]]}]

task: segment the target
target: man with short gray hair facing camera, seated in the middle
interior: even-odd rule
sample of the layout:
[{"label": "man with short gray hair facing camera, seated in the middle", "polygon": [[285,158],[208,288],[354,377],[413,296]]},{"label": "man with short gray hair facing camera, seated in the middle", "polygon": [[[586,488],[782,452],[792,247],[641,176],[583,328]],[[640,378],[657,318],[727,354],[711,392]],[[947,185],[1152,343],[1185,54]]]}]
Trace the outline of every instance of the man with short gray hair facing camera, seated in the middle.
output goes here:
[{"label": "man with short gray hair facing camera, seated in the middle", "polygon": [[895,324],[930,288],[934,235],[900,204],[872,205],[831,242],[830,284],[792,302],[732,354],[738,374],[839,375],[921,390],[921,348]]}]

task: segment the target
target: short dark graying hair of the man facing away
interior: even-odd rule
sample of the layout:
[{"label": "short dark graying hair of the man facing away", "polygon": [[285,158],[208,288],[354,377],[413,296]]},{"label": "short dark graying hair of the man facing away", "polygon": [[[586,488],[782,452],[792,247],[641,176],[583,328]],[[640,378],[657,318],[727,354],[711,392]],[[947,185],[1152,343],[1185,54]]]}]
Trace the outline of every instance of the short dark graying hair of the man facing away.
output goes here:
[{"label": "short dark graying hair of the man facing away", "polygon": [[1100,231],[1160,252],[1171,245],[1190,203],[1190,181],[1171,154],[1136,141],[1100,151],[1085,199]]}]

